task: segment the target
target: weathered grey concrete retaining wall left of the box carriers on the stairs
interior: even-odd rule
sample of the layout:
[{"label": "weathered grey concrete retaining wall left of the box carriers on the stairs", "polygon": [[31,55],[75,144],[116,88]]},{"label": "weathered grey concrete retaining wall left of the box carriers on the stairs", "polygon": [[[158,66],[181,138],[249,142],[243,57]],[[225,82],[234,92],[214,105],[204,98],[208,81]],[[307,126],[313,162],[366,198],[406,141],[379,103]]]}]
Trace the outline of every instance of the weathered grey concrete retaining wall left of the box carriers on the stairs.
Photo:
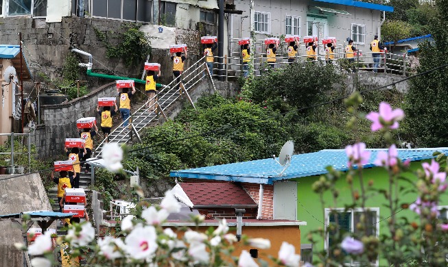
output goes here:
[{"label": "weathered grey concrete retaining wall left of the box carriers on the stairs", "polygon": [[[60,105],[43,105],[43,125],[32,133],[32,144],[36,145],[39,157],[61,155],[65,138],[79,138],[76,120],[95,117],[99,97],[115,97],[115,81],[97,88],[93,92]],[[97,119],[97,125],[99,120]],[[98,140],[98,139],[96,139]]]}]

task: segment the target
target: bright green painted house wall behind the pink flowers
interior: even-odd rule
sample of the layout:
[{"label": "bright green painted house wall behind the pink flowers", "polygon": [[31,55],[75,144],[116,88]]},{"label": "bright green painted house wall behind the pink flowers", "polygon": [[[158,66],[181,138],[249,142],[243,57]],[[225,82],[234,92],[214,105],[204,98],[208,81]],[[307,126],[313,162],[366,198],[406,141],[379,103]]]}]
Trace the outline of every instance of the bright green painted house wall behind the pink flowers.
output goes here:
[{"label": "bright green painted house wall behind the pink flowers", "polygon": [[[429,161],[428,161],[429,162]],[[411,162],[410,168],[412,170],[416,170],[421,168],[422,162]],[[407,175],[409,179],[416,181],[416,176],[409,174]],[[311,177],[301,177],[297,179],[293,179],[297,181],[297,220],[302,220],[307,222],[306,226],[300,227],[300,244],[309,244],[309,240],[307,238],[309,232],[311,230],[316,230],[319,227],[324,228],[324,210],[325,208],[333,207],[333,198],[331,197],[330,192],[326,192],[324,194],[324,201],[327,203],[325,207],[322,207],[319,195],[313,192],[311,189],[312,184],[319,179],[319,176],[311,176]],[[388,189],[388,177],[386,170],[384,168],[366,168],[363,174],[364,183],[366,184],[370,179],[374,181],[374,188]],[[400,185],[410,186],[410,183],[405,181],[400,181]],[[358,190],[359,194],[361,190],[359,188],[359,179],[353,179],[353,186]],[[352,203],[350,186],[345,181],[345,177],[340,179],[337,182],[337,188],[340,190],[340,196],[338,198],[338,207],[343,208],[344,205]],[[410,193],[400,196],[400,203],[412,203],[416,200],[417,194]],[[448,205],[448,196],[445,194],[442,196],[442,201],[439,205]],[[388,203],[387,199],[384,198],[384,195],[376,195],[372,196],[366,201],[366,207],[379,207],[379,217],[380,219],[384,219],[390,216],[390,209],[385,207]],[[405,209],[397,214],[397,216],[405,216],[410,220],[416,218],[416,214],[409,209]],[[379,225],[379,234],[388,233],[388,228],[386,225],[386,220],[382,221]],[[324,242],[322,242],[322,238],[318,239],[317,236],[314,236],[316,242],[313,244],[314,251],[320,251],[324,249]],[[382,261],[380,261],[380,266]]]}]

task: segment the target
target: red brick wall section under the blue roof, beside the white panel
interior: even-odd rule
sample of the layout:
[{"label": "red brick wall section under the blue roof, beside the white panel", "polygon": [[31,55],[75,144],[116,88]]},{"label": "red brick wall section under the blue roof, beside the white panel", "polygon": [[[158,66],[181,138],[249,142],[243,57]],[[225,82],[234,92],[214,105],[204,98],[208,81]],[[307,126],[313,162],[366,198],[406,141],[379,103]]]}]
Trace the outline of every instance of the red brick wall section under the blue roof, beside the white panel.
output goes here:
[{"label": "red brick wall section under the blue roof, beside the white panel", "polygon": [[[260,185],[257,183],[242,183],[244,190],[248,192],[250,197],[259,203]],[[263,205],[261,207],[261,217],[263,219],[274,218],[274,186],[263,185]]]}]

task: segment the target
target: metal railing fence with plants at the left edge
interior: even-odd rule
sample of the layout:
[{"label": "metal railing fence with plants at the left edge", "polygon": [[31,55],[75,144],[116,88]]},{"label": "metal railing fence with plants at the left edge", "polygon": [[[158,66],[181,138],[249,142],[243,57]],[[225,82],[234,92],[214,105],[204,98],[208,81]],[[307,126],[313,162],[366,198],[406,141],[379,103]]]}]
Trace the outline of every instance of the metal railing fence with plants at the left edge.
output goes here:
[{"label": "metal railing fence with plants at the left edge", "polygon": [[[0,171],[4,171],[4,167],[8,166],[8,173],[10,175],[13,175],[14,173],[24,173],[25,172],[25,166],[23,166],[25,164],[26,160],[25,158],[23,158],[21,155],[25,155],[28,154],[28,173],[30,173],[31,171],[31,133],[0,133],[0,136],[8,136],[8,140],[5,142],[5,147],[6,149],[4,149],[5,151],[8,152],[1,152],[0,151],[0,168],[3,166],[3,170]],[[24,140],[26,138],[26,141]],[[15,142],[15,139],[18,138],[19,140],[17,142]],[[27,151],[23,152],[23,149],[25,146],[24,142],[27,143]],[[16,147],[14,147],[14,145]],[[9,149],[8,149],[9,146]],[[3,150],[2,150],[3,151]],[[20,152],[18,152],[20,151]],[[9,155],[9,158],[8,158]],[[18,164],[14,164],[14,155],[19,155],[19,157],[16,157],[16,160],[18,160]],[[3,165],[4,164],[4,165]],[[3,173],[4,174],[4,173]]]}]

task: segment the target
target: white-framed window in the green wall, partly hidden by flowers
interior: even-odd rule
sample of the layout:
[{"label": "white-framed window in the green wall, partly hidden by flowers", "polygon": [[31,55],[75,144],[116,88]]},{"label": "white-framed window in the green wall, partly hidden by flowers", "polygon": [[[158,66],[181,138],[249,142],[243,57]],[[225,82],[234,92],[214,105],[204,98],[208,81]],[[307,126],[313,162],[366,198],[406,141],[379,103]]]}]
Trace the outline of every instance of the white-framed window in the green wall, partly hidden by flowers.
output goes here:
[{"label": "white-framed window in the green wall, partly hidden by flowers", "polygon": [[[361,208],[355,209],[325,209],[325,227],[329,224],[335,224],[335,215],[338,215],[338,227],[342,232],[358,233],[359,230],[356,229],[355,225],[360,222],[363,210]],[[379,207],[366,208],[364,212],[366,214],[367,235],[368,236],[379,236]],[[362,231],[364,232],[364,231]],[[325,249],[328,249],[332,245],[333,233],[330,231],[327,233],[327,238],[325,240]],[[329,251],[331,253],[331,251]],[[353,263],[352,263],[353,264]],[[376,262],[378,266],[378,259]]]}]

